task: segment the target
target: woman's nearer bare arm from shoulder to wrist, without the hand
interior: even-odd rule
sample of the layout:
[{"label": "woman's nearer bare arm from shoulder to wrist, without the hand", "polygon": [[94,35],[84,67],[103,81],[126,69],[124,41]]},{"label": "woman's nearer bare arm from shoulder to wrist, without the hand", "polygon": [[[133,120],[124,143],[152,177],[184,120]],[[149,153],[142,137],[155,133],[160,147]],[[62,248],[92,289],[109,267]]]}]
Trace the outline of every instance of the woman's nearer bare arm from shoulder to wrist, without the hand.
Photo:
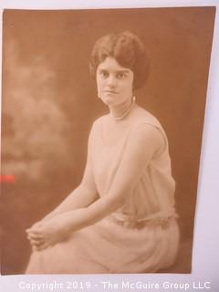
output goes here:
[{"label": "woman's nearer bare arm from shoulder to wrist, without the hand", "polygon": [[165,141],[160,130],[151,125],[142,124],[130,133],[120,168],[111,185],[109,193],[99,198],[88,208],[80,210],[80,214],[69,214],[69,225],[75,231],[95,224],[105,216],[119,209],[141,178],[141,173],[151,157],[165,147]]}]

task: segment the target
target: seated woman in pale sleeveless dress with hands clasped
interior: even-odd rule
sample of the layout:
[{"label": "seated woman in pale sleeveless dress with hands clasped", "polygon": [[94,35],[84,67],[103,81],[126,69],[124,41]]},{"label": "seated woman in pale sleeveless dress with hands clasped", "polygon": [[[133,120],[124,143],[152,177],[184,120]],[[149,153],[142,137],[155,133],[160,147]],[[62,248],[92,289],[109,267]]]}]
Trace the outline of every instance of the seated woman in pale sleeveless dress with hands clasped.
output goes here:
[{"label": "seated woman in pale sleeveless dress with hands clasped", "polygon": [[92,125],[81,183],[26,230],[33,250],[26,274],[153,273],[177,254],[167,137],[134,96],[148,73],[139,37],[99,38],[90,72],[110,112]]}]

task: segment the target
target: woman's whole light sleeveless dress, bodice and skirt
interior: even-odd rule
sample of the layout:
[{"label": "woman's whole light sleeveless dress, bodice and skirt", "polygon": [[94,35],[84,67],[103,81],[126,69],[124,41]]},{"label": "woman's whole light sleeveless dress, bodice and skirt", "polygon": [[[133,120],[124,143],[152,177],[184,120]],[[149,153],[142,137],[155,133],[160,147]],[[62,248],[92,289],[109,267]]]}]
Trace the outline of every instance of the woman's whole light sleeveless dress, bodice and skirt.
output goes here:
[{"label": "woman's whole light sleeveless dress, bodice and skirt", "polygon": [[100,196],[110,189],[131,131],[150,125],[161,131],[165,148],[145,165],[141,179],[120,210],[73,233],[66,241],[33,252],[26,274],[154,273],[174,262],[179,228],[166,134],[160,122],[144,110],[120,143],[108,146],[101,135],[103,119],[106,116],[94,123],[89,143]]}]

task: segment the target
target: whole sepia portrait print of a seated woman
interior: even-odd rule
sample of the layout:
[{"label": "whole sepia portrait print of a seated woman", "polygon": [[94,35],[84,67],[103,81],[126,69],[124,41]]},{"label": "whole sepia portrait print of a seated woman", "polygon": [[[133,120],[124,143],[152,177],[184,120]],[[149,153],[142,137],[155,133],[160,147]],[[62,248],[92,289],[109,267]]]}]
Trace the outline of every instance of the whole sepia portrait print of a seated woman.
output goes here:
[{"label": "whole sepia portrait print of a seated woman", "polygon": [[2,275],[192,273],[214,16],[4,11]]}]

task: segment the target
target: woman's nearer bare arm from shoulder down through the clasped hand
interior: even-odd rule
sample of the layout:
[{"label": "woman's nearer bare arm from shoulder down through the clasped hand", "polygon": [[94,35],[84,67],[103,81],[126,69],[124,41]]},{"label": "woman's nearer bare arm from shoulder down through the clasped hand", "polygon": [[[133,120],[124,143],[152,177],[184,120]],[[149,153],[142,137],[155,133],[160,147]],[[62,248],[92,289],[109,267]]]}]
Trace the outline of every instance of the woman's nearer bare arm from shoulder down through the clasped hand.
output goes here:
[{"label": "woman's nearer bare arm from shoulder down through the clasped hand", "polygon": [[33,245],[37,249],[47,248],[48,245],[56,244],[69,233],[95,224],[118,210],[138,183],[145,165],[157,151],[164,149],[164,145],[162,133],[150,125],[143,124],[133,130],[109,193],[87,207],[58,214],[41,226],[29,230],[28,236]]}]

